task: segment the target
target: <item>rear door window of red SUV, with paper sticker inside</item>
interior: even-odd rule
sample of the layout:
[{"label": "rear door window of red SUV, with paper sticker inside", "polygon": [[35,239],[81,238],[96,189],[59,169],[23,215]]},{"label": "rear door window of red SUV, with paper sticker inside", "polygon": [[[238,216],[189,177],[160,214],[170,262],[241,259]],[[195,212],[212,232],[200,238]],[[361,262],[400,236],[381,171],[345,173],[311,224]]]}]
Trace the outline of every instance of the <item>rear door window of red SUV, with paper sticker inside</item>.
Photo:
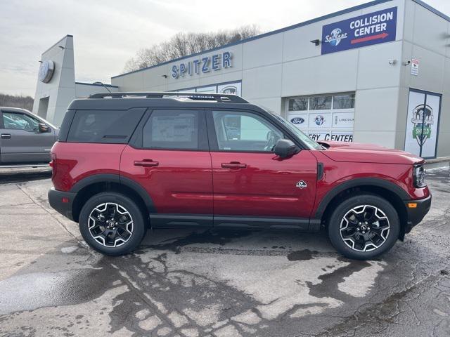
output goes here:
[{"label": "rear door window of red SUV, with paper sticker inside", "polygon": [[143,126],[142,145],[147,149],[198,150],[199,112],[154,110]]}]

